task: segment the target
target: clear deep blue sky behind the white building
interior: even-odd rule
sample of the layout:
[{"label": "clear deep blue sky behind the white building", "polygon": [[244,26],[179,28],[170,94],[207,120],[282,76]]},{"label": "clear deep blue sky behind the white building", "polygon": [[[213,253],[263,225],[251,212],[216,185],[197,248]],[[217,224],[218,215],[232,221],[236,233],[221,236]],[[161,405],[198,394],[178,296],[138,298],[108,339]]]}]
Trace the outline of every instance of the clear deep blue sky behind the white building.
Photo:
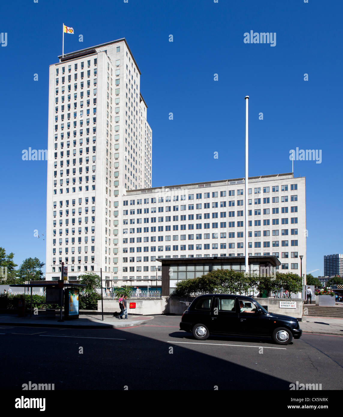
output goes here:
[{"label": "clear deep blue sky behind the white building", "polygon": [[[295,161],[294,174],[306,176],[307,271],[323,274],[323,255],[343,252],[343,3],[308,1],[2,2],[0,246],[17,264],[45,262],[33,234],[46,229],[47,162],[21,157],[47,148],[48,68],[64,22],[75,31],[66,53],[126,38],[153,131],[152,186],[244,177],[247,94],[249,176],[290,172],[290,149],[321,150],[320,164]],[[245,44],[250,30],[275,32],[275,47]]]}]

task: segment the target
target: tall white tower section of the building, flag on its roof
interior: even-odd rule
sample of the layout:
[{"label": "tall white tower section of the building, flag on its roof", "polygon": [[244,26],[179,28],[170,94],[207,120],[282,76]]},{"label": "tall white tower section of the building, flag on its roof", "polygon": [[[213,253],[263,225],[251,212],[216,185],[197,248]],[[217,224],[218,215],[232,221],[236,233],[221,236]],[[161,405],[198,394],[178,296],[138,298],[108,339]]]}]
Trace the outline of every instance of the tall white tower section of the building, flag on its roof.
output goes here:
[{"label": "tall white tower section of the building, flag on its roof", "polygon": [[152,132],[125,39],[50,65],[46,279],[118,273],[121,197],[151,187]]}]

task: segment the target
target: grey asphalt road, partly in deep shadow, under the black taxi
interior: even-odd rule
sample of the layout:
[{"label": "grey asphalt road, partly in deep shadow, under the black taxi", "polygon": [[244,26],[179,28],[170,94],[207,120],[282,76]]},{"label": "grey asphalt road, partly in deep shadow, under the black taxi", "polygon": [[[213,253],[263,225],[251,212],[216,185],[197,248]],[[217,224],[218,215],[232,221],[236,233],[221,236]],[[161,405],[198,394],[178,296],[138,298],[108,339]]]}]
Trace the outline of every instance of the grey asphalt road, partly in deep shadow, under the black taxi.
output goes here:
[{"label": "grey asphalt road, partly in deep shadow, under the black taxi", "polygon": [[[343,389],[343,337],[303,334],[292,344],[179,330],[179,316],[121,329],[0,327],[0,389]],[[300,326],[301,327],[301,326]]]}]

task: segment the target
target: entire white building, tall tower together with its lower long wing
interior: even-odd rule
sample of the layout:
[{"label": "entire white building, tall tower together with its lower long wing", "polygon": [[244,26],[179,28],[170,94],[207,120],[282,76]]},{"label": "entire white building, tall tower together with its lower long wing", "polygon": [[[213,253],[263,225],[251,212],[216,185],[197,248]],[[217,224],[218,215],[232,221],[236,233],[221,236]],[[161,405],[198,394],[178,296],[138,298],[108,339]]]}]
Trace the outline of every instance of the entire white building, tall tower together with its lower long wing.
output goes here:
[{"label": "entire white building, tall tower together with its lower long wing", "polygon": [[[244,256],[245,179],[151,187],[152,133],[125,39],[50,65],[46,279],[103,271],[109,285],[161,285],[157,259]],[[306,271],[305,178],[249,178],[248,254]],[[237,267],[237,265],[235,266]],[[244,263],[242,266],[244,270]],[[197,271],[187,271],[187,277]]]}]

